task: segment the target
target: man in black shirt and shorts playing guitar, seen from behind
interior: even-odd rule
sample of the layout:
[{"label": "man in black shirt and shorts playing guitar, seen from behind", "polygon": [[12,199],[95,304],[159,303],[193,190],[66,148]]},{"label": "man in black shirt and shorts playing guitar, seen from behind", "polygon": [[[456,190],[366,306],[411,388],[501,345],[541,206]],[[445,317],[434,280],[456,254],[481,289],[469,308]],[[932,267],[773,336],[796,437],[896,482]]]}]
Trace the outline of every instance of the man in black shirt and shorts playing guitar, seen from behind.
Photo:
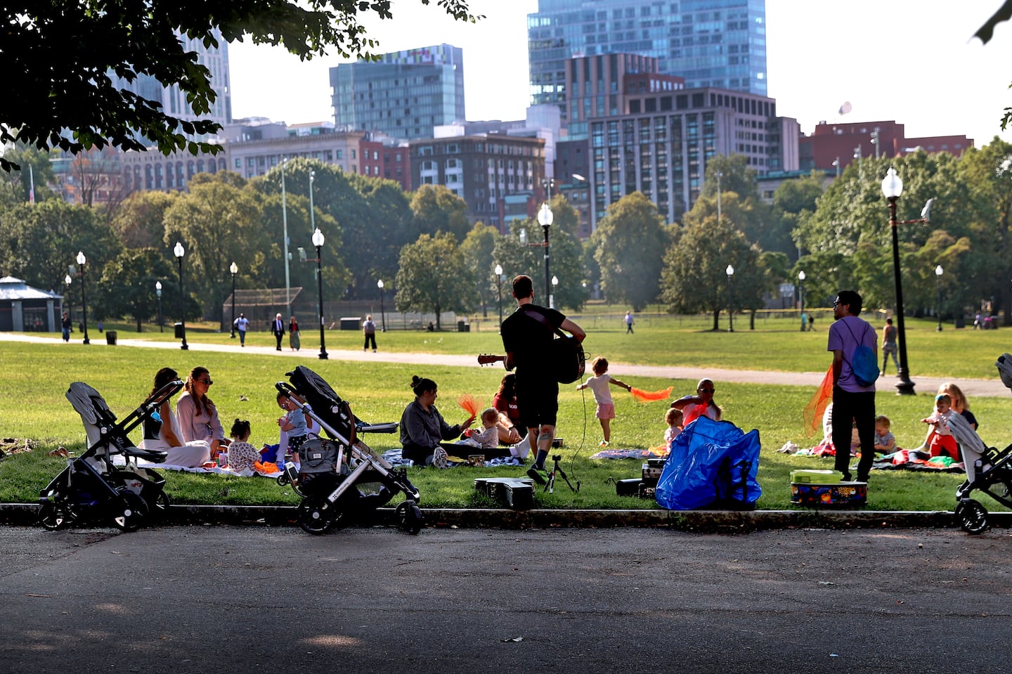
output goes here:
[{"label": "man in black shirt and shorts playing guitar, seen from behind", "polygon": [[506,369],[516,368],[516,402],[520,423],[527,428],[530,446],[537,447],[534,465],[527,475],[544,484],[540,472],[552,449],[559,413],[559,383],[553,368],[552,341],[562,329],[582,342],[587,333],[555,309],[534,304],[534,284],[530,276],[513,279],[517,308],[503,321],[500,334],[506,349]]}]

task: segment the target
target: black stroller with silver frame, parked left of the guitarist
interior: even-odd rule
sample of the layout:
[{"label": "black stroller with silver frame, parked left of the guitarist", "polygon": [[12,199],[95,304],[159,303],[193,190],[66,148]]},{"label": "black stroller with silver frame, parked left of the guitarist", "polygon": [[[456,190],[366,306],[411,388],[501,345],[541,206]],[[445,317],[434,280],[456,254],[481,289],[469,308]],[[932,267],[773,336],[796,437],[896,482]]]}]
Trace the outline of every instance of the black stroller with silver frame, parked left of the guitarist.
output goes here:
[{"label": "black stroller with silver frame, parked left of the guitarist", "polygon": [[[321,534],[346,526],[355,516],[404,492],[407,498],[396,510],[398,525],[417,534],[422,528],[418,490],[403,468],[392,466],[358,437],[364,432],[393,433],[398,424],[367,424],[357,419],[351,406],[308,367],[300,365],[286,376],[291,384],[278,382],[275,388],[300,404],[329,436],[303,444],[298,472],[294,464],[286,460],[277,479],[279,485],[290,484],[303,497],[299,504],[299,525],[303,530]],[[378,483],[378,492],[369,492],[367,483]]]}]

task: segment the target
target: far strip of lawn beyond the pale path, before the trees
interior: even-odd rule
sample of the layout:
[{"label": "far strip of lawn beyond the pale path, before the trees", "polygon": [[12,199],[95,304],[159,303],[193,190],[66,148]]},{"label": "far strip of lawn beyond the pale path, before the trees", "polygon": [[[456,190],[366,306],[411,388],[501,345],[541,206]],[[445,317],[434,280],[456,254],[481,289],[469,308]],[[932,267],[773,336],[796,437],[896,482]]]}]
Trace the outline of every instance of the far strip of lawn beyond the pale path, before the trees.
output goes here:
[{"label": "far strip of lawn beyond the pale path, before the trees", "polygon": [[[792,318],[760,318],[756,329],[749,330],[748,317],[735,318],[735,332],[727,332],[727,320],[722,317],[722,331],[710,330],[708,316],[669,316],[667,314],[641,314],[635,326],[636,333],[625,334],[625,326],[618,314],[574,314],[572,318],[588,333],[584,348],[591,357],[603,355],[613,363],[637,365],[682,365],[714,367],[720,369],[759,369],[787,372],[822,372],[828,365],[826,353],[827,331],[830,320],[820,320],[815,331],[800,332]],[[865,314],[865,318],[870,315]],[[877,317],[878,315],[875,315]],[[820,317],[822,318],[822,317]],[[471,332],[456,332],[455,326],[446,326],[443,332],[392,330],[376,335],[381,351],[407,353],[473,354],[501,353],[502,341],[497,328],[498,316],[490,312],[489,318],[472,319]],[[877,320],[877,322],[876,322]],[[879,329],[880,318],[873,318],[872,325]],[[906,320],[908,365],[911,378],[918,375],[944,378],[997,380],[995,359],[1009,350],[1005,330],[975,331],[954,330],[946,325],[936,332],[937,323],[930,319]],[[155,341],[176,342],[171,330],[159,332],[156,326],[144,326],[136,332],[135,326],[115,327],[118,338],[143,338]],[[217,332],[212,324],[187,327],[186,338],[190,344],[234,344],[228,332]],[[454,327],[453,331],[448,328]],[[40,333],[31,333],[38,336]],[[58,334],[50,335],[59,341]],[[74,333],[72,343],[80,343],[80,333]],[[105,346],[105,338],[89,330],[92,344]],[[270,333],[250,332],[246,341],[257,346],[273,346]],[[284,343],[287,348],[287,342]],[[304,329],[302,352],[314,357],[320,350],[319,330]],[[356,330],[328,330],[328,351],[362,348],[362,336]],[[953,354],[958,354],[954,356]],[[889,371],[895,371],[892,361]],[[410,377],[409,377],[410,378]]]}]

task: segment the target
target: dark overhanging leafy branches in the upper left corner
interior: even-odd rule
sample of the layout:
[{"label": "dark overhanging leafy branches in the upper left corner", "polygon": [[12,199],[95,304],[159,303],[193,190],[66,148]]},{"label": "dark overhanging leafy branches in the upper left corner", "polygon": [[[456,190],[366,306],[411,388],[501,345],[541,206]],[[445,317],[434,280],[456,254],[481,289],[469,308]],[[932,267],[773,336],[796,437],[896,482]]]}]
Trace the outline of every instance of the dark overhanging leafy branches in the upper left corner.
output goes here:
[{"label": "dark overhanging leafy branches in the upper left corner", "polygon": [[[429,4],[430,0],[420,0]],[[438,0],[457,20],[476,21],[467,0]],[[251,39],[281,45],[303,60],[333,50],[343,57],[373,58],[375,40],[362,15],[393,18],[391,0],[72,0],[6,2],[0,50],[4,95],[0,143],[20,141],[39,150],[79,153],[107,145],[142,150],[144,139],[165,154],[219,152],[195,137],[220,127],[189,121],[159,101],[118,85],[150,75],[176,85],[193,114],[207,114],[217,93],[212,73],[186,40],[218,47]],[[12,164],[0,157],[0,168]]]}]

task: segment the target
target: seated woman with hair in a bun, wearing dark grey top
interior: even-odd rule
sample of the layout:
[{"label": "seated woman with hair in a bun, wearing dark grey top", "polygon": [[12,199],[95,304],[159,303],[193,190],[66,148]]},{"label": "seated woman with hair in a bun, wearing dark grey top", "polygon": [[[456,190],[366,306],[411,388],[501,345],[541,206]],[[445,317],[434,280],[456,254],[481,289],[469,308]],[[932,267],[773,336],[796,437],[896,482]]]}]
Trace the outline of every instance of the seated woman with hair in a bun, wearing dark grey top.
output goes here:
[{"label": "seated woman with hair in a bun, wearing dark grey top", "polygon": [[415,466],[446,468],[446,449],[440,446],[440,441],[457,437],[475,422],[475,418],[471,417],[455,426],[443,421],[435,406],[436,383],[432,380],[413,376],[411,390],[415,400],[404,408],[401,415],[401,444],[404,446],[401,455],[414,461]]}]

